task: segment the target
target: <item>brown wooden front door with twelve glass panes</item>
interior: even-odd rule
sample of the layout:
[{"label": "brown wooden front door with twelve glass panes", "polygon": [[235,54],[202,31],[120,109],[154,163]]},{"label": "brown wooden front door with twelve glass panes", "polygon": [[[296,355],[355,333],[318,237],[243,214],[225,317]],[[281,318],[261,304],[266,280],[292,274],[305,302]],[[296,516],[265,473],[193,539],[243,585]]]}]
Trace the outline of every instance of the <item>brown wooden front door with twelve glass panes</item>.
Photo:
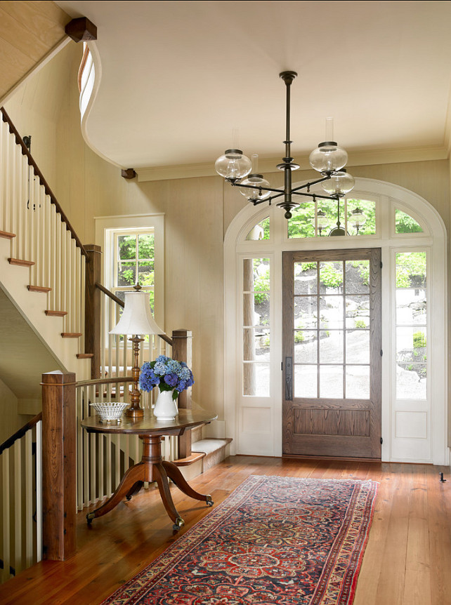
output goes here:
[{"label": "brown wooden front door with twelve glass panes", "polygon": [[381,458],[381,251],[283,253],[283,453]]}]

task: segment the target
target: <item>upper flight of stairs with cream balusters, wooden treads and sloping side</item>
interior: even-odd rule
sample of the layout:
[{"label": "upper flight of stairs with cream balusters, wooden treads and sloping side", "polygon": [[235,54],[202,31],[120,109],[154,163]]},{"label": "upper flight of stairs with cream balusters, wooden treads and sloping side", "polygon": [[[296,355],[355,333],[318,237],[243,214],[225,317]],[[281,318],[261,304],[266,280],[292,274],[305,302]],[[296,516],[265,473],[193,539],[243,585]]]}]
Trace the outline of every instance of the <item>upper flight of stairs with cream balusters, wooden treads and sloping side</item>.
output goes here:
[{"label": "upper flight of stairs with cream balusters, wooden treads and sloping side", "polygon": [[60,366],[87,378],[86,251],[3,108],[1,115],[0,284]]}]

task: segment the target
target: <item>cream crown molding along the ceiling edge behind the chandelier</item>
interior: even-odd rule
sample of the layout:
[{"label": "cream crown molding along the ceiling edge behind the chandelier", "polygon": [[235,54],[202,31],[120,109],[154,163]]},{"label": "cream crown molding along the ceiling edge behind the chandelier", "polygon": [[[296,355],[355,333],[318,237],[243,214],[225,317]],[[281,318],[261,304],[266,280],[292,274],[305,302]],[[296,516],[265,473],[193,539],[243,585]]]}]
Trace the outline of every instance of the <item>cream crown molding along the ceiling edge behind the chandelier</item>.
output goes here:
[{"label": "cream crown molding along the ceiling edge behind the chandelier", "polygon": [[[381,149],[356,151],[348,154],[348,166],[374,166],[375,164],[400,164],[412,161],[433,161],[447,159],[449,149],[444,146],[415,147],[406,149]],[[308,156],[296,157],[301,170],[312,170]],[[280,158],[259,158],[259,171],[262,173],[275,172],[275,166],[280,164]],[[136,168],[139,182],[154,180],[171,180],[177,178],[200,178],[217,176],[214,161],[202,164],[179,164],[178,166],[152,166]]]}]

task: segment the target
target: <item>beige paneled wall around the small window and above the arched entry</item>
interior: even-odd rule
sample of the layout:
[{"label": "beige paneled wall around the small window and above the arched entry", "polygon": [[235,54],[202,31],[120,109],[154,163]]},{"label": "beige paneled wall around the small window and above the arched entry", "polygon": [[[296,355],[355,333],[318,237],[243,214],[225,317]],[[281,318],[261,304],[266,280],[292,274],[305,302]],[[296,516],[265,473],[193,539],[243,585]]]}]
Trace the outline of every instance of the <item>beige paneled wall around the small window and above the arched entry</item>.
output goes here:
[{"label": "beige paneled wall around the small window and above the arched entry", "polygon": [[[96,156],[79,128],[80,54],[74,44],[65,48],[27,84],[27,93],[16,95],[8,110],[20,133],[35,137],[33,153],[44,174],[48,170],[51,187],[82,241],[95,241],[94,216],[165,213],[164,328],[167,333],[174,328],[192,330],[193,397],[223,418],[223,234],[247,201],[220,177],[127,181],[118,168]],[[48,109],[46,99],[58,105],[56,111]],[[421,195],[438,210],[449,232],[447,161],[356,166],[351,172]],[[299,171],[296,180],[315,174]],[[281,175],[277,172],[269,179],[278,185]]]}]

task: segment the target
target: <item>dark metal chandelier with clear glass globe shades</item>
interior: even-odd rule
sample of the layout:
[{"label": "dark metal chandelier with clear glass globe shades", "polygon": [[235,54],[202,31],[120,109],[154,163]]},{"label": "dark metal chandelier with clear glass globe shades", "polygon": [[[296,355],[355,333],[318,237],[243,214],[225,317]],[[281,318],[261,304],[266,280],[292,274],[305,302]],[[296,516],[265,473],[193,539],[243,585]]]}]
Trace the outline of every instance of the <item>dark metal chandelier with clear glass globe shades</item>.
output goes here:
[{"label": "dark metal chandelier with clear glass globe shades", "polygon": [[[251,174],[252,162],[243,155],[241,149],[226,149],[224,154],[218,157],[215,164],[216,172],[223,176],[227,182],[230,182],[233,187],[240,187],[240,192],[248,198],[251,204],[256,206],[262,204],[263,201],[268,201],[271,205],[273,201],[278,200],[276,205],[285,210],[285,218],[287,219],[292,218],[292,210],[299,206],[301,197],[309,197],[313,201],[316,199],[336,200],[339,204],[340,199],[353,190],[354,187],[353,177],[344,170],[346,161],[348,161],[348,154],[333,140],[320,143],[316,149],[313,149],[309,157],[312,168],[318,171],[322,178],[307,182],[305,185],[299,185],[299,187],[292,187],[292,172],[300,168],[299,164],[296,164],[294,158],[292,158],[291,146],[293,141],[290,140],[289,133],[290,88],[296,76],[296,72],[282,72],[280,74],[280,78],[285,82],[287,89],[287,127],[286,138],[283,141],[285,157],[282,158],[282,164],[277,164],[277,169],[284,171],[285,175],[283,189],[270,187],[270,183],[261,174]],[[326,123],[329,125],[329,128],[326,128],[326,138],[332,139],[332,136],[327,136],[329,133],[332,134],[330,128],[332,119],[327,118]],[[322,189],[327,195],[310,192],[311,187],[318,183],[321,183]],[[318,227],[320,234],[324,228],[325,225]],[[342,233],[335,234],[344,235],[345,231],[341,231]]]}]

